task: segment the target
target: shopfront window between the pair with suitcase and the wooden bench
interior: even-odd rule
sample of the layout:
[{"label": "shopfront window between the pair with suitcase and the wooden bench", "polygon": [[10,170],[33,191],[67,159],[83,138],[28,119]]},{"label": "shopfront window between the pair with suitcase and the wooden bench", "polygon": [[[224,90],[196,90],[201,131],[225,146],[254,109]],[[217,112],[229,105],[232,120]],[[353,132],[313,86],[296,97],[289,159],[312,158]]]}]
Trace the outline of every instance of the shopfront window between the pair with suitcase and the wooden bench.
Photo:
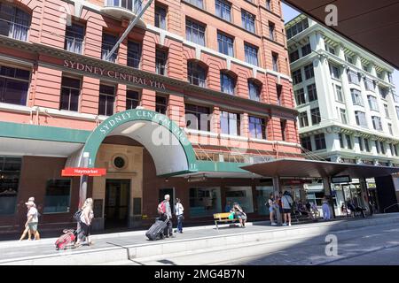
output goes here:
[{"label": "shopfront window between the pair with suitcase and the wooden bench", "polygon": [[220,187],[190,188],[190,217],[213,216],[222,212]]}]

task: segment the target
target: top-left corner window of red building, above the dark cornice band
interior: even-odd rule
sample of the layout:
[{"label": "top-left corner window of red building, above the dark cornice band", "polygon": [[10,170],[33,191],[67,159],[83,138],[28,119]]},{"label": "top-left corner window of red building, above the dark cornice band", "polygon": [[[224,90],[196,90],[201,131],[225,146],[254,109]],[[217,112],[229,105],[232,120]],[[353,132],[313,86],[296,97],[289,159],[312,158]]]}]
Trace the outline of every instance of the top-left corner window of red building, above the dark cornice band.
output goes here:
[{"label": "top-left corner window of red building, above the dark cornice band", "polygon": [[23,42],[27,41],[30,15],[4,2],[0,3],[0,35],[5,35]]}]

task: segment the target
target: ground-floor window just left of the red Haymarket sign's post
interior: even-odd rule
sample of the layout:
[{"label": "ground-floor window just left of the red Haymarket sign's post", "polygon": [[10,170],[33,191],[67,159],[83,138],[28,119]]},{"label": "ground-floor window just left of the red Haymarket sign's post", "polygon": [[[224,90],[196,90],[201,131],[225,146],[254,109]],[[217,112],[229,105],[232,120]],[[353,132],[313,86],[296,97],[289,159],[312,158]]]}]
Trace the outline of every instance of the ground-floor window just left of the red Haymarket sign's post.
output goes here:
[{"label": "ground-floor window just left of the red Haymarket sign's post", "polygon": [[71,180],[48,180],[43,213],[69,212]]}]

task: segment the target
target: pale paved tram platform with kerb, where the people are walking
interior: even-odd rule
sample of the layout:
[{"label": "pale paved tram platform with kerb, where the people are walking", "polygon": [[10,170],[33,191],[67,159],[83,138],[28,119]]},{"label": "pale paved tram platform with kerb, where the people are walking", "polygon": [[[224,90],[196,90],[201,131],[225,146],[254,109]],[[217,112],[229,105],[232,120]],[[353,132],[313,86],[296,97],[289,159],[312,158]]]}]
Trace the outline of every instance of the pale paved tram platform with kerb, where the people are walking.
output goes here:
[{"label": "pale paved tram platform with kerb, where the people are walking", "polygon": [[399,213],[374,215],[372,218],[348,218],[319,221],[313,224],[270,226],[268,222],[239,226],[197,226],[184,229],[175,238],[148,241],[145,231],[93,235],[94,245],[57,251],[56,238],[40,241],[0,242],[0,264],[107,264],[134,260],[145,256],[160,256],[177,252],[231,247],[254,241],[282,241],[295,237],[311,237],[332,231],[362,226],[387,225],[399,222]]}]

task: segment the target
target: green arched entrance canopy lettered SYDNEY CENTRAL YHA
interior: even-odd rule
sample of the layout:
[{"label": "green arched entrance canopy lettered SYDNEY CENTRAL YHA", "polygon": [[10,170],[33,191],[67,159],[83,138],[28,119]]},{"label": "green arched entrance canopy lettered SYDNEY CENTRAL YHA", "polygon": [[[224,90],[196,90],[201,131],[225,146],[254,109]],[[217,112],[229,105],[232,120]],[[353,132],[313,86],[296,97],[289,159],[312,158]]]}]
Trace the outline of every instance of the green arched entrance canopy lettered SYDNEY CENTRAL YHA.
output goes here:
[{"label": "green arched entrance canopy lettered SYDNEY CENTRAL YHA", "polygon": [[128,136],[143,144],[153,157],[158,176],[198,171],[192,143],[184,131],[165,115],[144,109],[122,111],[106,119],[66,164],[85,167],[83,157],[88,157],[87,167],[95,167],[101,143],[112,135]]}]

